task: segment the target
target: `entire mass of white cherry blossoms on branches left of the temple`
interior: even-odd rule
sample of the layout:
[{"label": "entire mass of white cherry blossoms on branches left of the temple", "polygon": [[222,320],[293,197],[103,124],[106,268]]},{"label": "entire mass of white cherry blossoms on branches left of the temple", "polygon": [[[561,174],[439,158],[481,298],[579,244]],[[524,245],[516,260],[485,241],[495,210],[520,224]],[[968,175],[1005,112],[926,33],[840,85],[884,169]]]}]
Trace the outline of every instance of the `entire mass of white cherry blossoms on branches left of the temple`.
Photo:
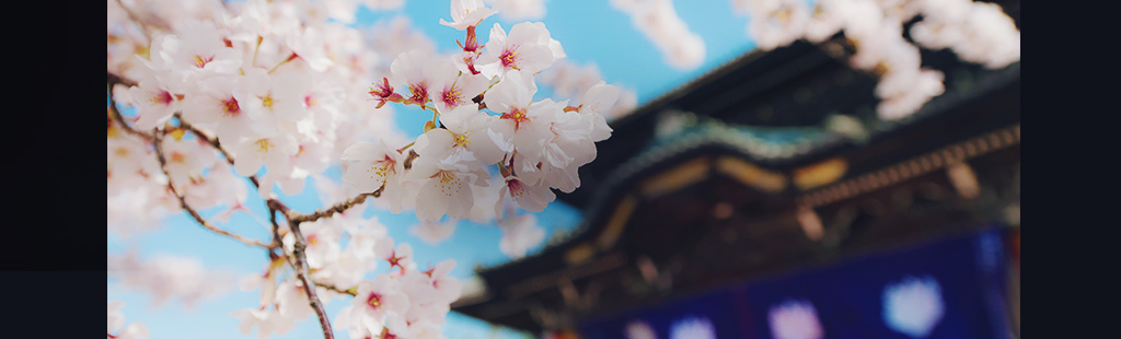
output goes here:
[{"label": "entire mass of white cherry blossoms on branches left of the temple", "polygon": [[[578,103],[536,97],[536,76],[567,57],[544,23],[494,23],[481,44],[475,30],[497,11],[453,0],[452,21],[441,23],[465,38],[456,41],[462,51],[441,55],[404,18],[345,26],[359,4],[401,1],[109,1],[110,227],[149,229],[186,209],[210,230],[266,248],[263,272],[241,282],[260,290],[260,303],[232,314],[243,333],[282,335],[316,314],[330,337],[322,305],[351,295],[333,318],[353,338],[443,338],[462,290],[448,275],[455,261],[418,267],[409,244],[362,216],[365,197],[430,224],[498,219],[501,249],[524,255],[544,230],[509,207],[541,211],[552,189],[574,190],[577,168],[611,134],[603,114],[619,110],[618,87],[582,84]],[[633,106],[632,96],[623,103]],[[424,134],[406,139],[387,103],[430,112]],[[118,111],[129,106],[135,113]],[[324,175],[333,166],[345,186]],[[337,208],[300,215],[274,191],[299,194],[307,179]],[[221,230],[197,213],[220,210],[210,217],[217,222],[249,214],[251,194],[272,213],[271,223],[254,216],[271,243]],[[436,241],[448,229],[429,228]],[[122,276],[126,285],[159,298],[213,294],[213,276],[195,262],[110,261],[136,272]]]}]

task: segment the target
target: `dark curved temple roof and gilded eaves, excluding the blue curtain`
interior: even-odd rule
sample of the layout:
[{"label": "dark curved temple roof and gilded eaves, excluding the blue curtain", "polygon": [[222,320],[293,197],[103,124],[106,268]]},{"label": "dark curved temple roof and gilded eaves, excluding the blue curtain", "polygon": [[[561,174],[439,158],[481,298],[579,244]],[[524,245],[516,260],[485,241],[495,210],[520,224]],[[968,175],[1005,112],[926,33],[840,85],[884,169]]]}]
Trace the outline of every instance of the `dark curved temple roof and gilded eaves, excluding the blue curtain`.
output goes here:
[{"label": "dark curved temple roof and gilded eaves, excluding the blue curtain", "polygon": [[[843,38],[834,38],[839,40]],[[825,206],[828,214],[843,215],[844,208],[828,205],[908,178],[929,178],[952,163],[997,157],[992,161],[1003,170],[1009,161],[1018,162],[1019,63],[985,69],[960,62],[948,50],[923,50],[924,66],[946,74],[945,94],[910,116],[883,121],[874,111],[874,76],[847,67],[830,49],[830,43],[799,41],[752,51],[612,121],[612,138],[597,143],[596,160],[580,169],[581,188],[557,194],[584,211],[582,224],[549,239],[538,253],[478,269],[479,289],[465,291],[453,308],[536,329],[527,321],[539,322],[546,312],[536,302],[560,302],[559,292],[549,294],[547,289],[587,284],[596,275],[643,261],[670,265],[668,254],[659,257],[655,252],[660,249],[650,247],[666,239],[628,227],[657,223],[659,216],[640,214],[657,214],[659,208],[676,211],[663,211],[663,218],[671,220],[657,226],[663,228],[651,225],[649,233],[676,236],[682,233],[666,227],[685,227],[695,223],[688,218],[712,214],[713,201],[725,201],[715,204],[717,209],[731,204],[734,215],[751,216],[741,224],[758,224],[759,232],[770,229],[771,237],[800,244],[782,249],[790,257],[809,248],[800,232],[780,227],[797,224],[790,219],[797,208]],[[948,185],[941,178],[930,180]],[[713,195],[719,197],[697,200]],[[945,205],[938,204],[930,206]],[[929,224],[929,229],[937,228],[937,220],[948,220],[943,218],[969,219],[954,213],[914,218],[908,223]],[[720,243],[713,234],[696,236],[680,241],[702,247]],[[567,298],[564,302],[572,302]],[[526,304],[529,301],[534,303]]]}]

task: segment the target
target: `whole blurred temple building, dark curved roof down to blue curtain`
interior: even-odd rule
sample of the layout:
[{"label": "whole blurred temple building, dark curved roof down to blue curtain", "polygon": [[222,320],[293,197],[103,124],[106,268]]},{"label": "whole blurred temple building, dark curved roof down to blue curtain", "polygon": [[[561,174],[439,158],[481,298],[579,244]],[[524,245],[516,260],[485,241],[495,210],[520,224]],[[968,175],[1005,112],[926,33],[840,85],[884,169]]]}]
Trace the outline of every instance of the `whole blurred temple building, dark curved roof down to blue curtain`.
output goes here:
[{"label": "whole blurred temple building, dark curved roof down to blue curtain", "polygon": [[453,310],[573,338],[1018,337],[1019,63],[923,50],[946,93],[889,122],[828,45],[744,55],[613,122],[558,195],[583,224],[481,269]]}]

